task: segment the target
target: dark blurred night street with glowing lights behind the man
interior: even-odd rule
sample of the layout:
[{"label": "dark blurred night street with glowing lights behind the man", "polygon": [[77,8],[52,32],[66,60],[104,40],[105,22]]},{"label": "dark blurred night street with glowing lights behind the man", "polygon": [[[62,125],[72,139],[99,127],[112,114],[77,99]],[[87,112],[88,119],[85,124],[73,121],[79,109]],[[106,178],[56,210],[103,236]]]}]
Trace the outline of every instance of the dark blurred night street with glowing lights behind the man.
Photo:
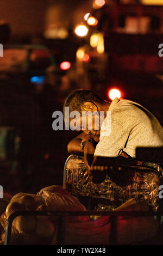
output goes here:
[{"label": "dark blurred night street with glowing lights behind the man", "polygon": [[52,114],[74,89],[137,101],[163,123],[163,0],[1,0],[0,44],[0,184],[11,194],[62,185],[77,133],[54,131]]}]

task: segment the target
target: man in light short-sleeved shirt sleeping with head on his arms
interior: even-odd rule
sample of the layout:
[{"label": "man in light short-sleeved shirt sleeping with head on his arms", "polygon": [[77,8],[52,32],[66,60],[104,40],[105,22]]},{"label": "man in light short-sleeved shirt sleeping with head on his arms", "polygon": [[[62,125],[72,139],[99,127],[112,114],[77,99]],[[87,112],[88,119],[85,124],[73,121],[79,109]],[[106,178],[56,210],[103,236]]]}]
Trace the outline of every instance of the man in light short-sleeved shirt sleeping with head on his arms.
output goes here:
[{"label": "man in light short-sleeved shirt sleeping with head on his arms", "polygon": [[[92,165],[88,155],[93,159],[98,156],[137,159],[137,148],[154,148],[148,153],[141,151],[141,160],[162,163],[163,127],[139,103],[117,97],[109,102],[91,90],[79,89],[67,96],[65,107],[69,107],[71,113],[78,113],[76,130],[82,131],[68,143],[68,153],[83,153],[90,175]],[[74,124],[72,118],[71,124]]]}]

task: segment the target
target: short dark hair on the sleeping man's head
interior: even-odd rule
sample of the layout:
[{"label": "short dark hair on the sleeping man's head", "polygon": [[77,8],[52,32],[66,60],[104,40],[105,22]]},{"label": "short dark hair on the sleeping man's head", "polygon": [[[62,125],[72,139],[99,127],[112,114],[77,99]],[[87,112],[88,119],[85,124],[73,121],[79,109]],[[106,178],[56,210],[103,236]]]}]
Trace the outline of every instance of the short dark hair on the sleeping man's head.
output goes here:
[{"label": "short dark hair on the sleeping man's head", "polygon": [[82,113],[82,106],[85,101],[92,101],[98,103],[104,103],[105,100],[99,97],[96,93],[92,92],[92,90],[84,90],[78,89],[74,90],[70,93],[64,103],[65,107],[69,107],[69,111],[78,111],[80,114]]}]

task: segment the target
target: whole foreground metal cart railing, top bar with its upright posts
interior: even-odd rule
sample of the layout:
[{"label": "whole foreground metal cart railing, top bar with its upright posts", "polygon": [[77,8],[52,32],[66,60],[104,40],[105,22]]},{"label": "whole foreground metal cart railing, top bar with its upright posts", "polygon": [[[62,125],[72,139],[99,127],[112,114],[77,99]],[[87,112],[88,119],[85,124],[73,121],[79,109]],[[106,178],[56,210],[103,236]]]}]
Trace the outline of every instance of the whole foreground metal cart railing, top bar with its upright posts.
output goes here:
[{"label": "whole foreground metal cart railing, top bar with its upright posts", "polygon": [[[163,211],[15,211],[13,212],[6,224],[4,245],[11,244],[11,228],[12,222],[17,216],[58,216],[59,228],[57,234],[57,245],[64,245],[65,241],[65,217],[66,216],[110,216],[110,237],[111,245],[116,243],[117,236],[117,218],[118,216],[155,216],[156,220],[161,224],[161,216]],[[159,230],[158,230],[159,232]]]}]

